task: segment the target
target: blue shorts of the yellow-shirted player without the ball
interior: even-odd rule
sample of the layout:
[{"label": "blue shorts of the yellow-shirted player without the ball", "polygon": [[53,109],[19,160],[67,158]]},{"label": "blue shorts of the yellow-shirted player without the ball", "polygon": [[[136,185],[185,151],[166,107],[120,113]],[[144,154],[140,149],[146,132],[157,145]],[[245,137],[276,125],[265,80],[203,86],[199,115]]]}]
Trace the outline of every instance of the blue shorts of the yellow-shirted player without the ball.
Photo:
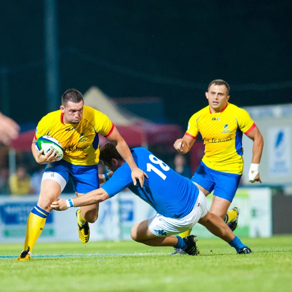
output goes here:
[{"label": "blue shorts of the yellow-shirted player without the ball", "polygon": [[232,202],[240,178],[240,174],[213,170],[201,162],[191,181],[198,183],[210,193],[214,190],[214,196]]}]

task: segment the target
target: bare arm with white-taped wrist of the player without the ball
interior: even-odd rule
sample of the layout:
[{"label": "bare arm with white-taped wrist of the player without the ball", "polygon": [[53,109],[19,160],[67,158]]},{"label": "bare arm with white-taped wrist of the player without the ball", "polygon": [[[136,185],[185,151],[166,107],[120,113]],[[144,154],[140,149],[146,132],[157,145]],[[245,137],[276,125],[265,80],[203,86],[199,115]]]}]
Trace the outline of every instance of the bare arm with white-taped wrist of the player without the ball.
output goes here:
[{"label": "bare arm with white-taped wrist of the player without the ball", "polygon": [[249,171],[249,181],[251,183],[255,182],[261,183],[258,166],[263,152],[264,138],[257,127],[254,128],[250,133],[248,133],[247,136],[254,141],[253,159]]}]

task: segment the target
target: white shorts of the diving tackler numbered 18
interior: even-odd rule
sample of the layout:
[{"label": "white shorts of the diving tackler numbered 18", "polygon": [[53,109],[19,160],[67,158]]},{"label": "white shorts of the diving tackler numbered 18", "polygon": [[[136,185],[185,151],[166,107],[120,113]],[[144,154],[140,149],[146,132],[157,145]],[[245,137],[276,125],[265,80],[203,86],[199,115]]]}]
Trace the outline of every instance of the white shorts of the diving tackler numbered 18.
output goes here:
[{"label": "white shorts of the diving tackler numbered 18", "polygon": [[168,218],[157,213],[154,217],[148,219],[148,228],[157,237],[179,234],[191,229],[207,212],[206,197],[199,190],[195,206],[188,215],[183,218]]}]

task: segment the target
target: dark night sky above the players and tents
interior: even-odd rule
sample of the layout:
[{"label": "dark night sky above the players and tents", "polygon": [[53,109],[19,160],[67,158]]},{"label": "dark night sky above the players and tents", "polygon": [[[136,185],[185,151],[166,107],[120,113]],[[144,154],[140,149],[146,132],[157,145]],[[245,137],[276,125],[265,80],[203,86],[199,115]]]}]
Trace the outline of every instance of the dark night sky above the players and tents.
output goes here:
[{"label": "dark night sky above the players and tents", "polygon": [[[48,112],[45,2],[1,1],[1,109],[22,124]],[[288,103],[291,14],[289,0],[58,1],[57,96],[92,85],[110,97],[157,96],[161,119],[183,127],[216,78],[240,107]]]}]

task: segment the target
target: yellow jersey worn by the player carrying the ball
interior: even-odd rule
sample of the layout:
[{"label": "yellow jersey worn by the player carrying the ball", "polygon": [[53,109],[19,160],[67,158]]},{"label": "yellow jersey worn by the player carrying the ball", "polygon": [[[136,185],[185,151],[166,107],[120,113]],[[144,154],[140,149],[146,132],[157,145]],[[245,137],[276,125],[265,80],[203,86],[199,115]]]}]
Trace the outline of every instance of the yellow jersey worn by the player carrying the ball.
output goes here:
[{"label": "yellow jersey worn by the player carrying the ball", "polygon": [[64,160],[74,165],[93,165],[99,162],[98,133],[108,137],[114,129],[110,119],[102,112],[84,106],[78,124],[64,124],[63,113],[48,113],[37,124],[35,139],[50,135],[64,149]]}]

